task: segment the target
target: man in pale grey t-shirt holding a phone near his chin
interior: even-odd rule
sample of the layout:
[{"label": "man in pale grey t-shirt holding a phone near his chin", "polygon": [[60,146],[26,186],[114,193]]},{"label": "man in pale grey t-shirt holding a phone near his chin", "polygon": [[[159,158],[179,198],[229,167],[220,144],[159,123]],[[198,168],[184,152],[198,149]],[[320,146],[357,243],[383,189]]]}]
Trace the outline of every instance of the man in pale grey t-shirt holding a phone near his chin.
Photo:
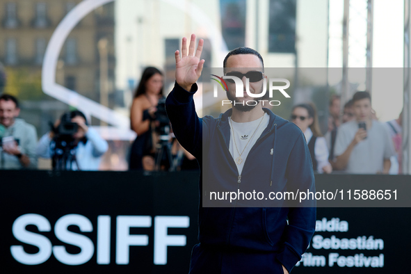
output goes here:
[{"label": "man in pale grey t-shirt holding a phone near his chin", "polygon": [[369,92],[353,96],[355,120],[342,124],[335,141],[335,168],[357,174],[388,174],[395,154],[387,127],[373,120]]}]

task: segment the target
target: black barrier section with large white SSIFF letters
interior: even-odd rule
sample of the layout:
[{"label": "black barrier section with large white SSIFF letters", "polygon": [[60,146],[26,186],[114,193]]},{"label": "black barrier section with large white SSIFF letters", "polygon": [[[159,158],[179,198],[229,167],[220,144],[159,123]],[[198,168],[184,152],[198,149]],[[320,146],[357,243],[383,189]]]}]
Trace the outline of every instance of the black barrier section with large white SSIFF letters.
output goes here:
[{"label": "black barrier section with large white SSIFF letters", "polygon": [[[7,269],[8,273],[187,273],[191,248],[197,243],[198,178],[198,172],[145,175],[142,172],[2,171],[1,269]],[[13,233],[13,223],[19,217],[23,219]],[[17,261],[24,259],[18,247],[23,246],[24,252],[31,254],[38,253],[39,248],[22,244],[16,236],[33,239],[33,235],[24,234],[23,227],[24,223],[33,221],[38,226],[42,224],[44,232],[34,225],[26,229],[42,235],[41,239],[35,239],[35,245],[42,247],[40,251],[44,255],[32,258],[34,265],[24,265]],[[80,232],[76,223],[82,224],[87,232]],[[164,225],[177,227],[164,231]],[[75,235],[70,232],[86,237],[73,239]],[[164,261],[161,254],[164,246],[154,245],[156,241],[164,243],[167,232],[182,236],[166,240],[183,243],[166,247]],[[141,236],[133,238],[134,234]],[[67,240],[76,243],[70,245]],[[131,247],[119,244],[119,240]],[[86,243],[82,249],[75,246],[81,242]],[[53,246],[52,250],[48,245]],[[91,245],[92,252],[87,250]],[[61,246],[71,254],[81,252],[79,258],[71,258],[71,263],[78,266],[67,265],[70,256],[64,255]],[[56,252],[61,255],[56,257]],[[154,259],[158,260],[157,264]]]}]

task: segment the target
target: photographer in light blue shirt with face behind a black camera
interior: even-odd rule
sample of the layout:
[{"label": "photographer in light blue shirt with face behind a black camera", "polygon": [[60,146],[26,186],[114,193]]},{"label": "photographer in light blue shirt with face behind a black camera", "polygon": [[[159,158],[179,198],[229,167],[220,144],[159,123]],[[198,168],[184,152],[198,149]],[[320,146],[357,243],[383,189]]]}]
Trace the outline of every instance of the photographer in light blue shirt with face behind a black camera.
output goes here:
[{"label": "photographer in light blue shirt with face behind a black camera", "polygon": [[107,149],[106,140],[88,127],[86,116],[81,111],[71,111],[42,136],[36,152],[42,158],[53,159],[54,169],[98,170]]}]

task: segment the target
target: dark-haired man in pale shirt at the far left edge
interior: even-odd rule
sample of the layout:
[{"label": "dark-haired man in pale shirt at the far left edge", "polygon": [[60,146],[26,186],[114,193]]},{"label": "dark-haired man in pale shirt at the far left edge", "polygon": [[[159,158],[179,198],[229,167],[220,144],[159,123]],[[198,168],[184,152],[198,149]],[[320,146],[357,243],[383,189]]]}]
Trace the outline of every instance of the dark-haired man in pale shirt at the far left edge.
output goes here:
[{"label": "dark-haired man in pale shirt at the far left edge", "polygon": [[19,102],[0,96],[0,169],[37,168],[35,127],[18,119]]}]

